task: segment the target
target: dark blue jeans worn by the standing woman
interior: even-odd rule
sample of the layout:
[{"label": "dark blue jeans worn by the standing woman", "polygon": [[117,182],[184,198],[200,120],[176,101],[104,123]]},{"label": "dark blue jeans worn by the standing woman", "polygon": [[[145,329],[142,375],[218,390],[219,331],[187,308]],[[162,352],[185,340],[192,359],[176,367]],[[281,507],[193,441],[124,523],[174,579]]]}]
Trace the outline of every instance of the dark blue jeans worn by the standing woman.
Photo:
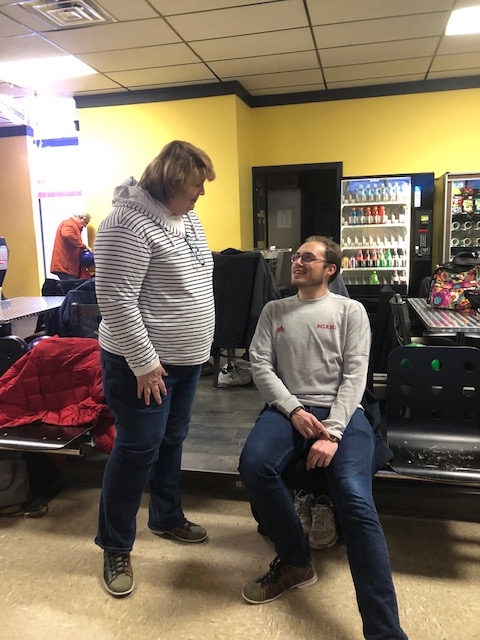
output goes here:
[{"label": "dark blue jeans worn by the standing woman", "polygon": [[147,406],[125,358],[101,349],[103,389],[115,418],[116,437],[103,476],[95,542],[130,552],[142,494],[150,491],[148,526],[157,531],[183,524],[180,500],[182,446],[201,366],[165,365],[167,395]]}]

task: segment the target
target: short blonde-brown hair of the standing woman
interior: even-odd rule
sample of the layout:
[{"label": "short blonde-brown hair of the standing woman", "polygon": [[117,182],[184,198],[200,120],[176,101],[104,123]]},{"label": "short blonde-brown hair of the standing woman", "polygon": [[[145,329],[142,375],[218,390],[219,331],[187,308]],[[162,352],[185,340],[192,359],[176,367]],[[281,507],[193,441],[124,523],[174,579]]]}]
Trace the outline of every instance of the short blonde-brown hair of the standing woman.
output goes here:
[{"label": "short blonde-brown hair of the standing woman", "polygon": [[202,149],[190,142],[173,140],[163,147],[143,172],[139,185],[167,204],[185,193],[192,182],[215,180],[213,163]]}]

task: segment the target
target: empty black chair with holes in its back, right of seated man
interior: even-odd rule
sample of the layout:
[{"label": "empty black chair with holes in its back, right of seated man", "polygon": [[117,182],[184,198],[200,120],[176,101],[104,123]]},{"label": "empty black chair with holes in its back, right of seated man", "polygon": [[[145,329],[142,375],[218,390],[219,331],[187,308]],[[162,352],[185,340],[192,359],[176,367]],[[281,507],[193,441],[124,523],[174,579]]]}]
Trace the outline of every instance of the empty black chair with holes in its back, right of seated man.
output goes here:
[{"label": "empty black chair with holes in its back, right of seated man", "polygon": [[387,439],[397,473],[480,483],[480,349],[394,349],[388,358]]}]

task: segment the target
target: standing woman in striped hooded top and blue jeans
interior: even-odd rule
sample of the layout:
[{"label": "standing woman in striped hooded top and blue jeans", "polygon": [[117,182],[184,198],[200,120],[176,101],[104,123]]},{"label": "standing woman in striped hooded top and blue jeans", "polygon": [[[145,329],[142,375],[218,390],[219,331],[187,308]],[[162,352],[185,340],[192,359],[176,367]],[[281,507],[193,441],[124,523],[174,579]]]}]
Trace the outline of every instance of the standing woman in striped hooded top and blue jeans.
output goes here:
[{"label": "standing woman in striped hooded top and blue jeans", "polygon": [[213,260],[193,212],[215,170],[188,142],[167,144],[140,182],[115,189],[95,242],[103,386],[115,417],[95,542],[109,593],[133,590],[130,552],[146,486],[156,535],[202,542],[180,498],[182,445],[214,332]]}]

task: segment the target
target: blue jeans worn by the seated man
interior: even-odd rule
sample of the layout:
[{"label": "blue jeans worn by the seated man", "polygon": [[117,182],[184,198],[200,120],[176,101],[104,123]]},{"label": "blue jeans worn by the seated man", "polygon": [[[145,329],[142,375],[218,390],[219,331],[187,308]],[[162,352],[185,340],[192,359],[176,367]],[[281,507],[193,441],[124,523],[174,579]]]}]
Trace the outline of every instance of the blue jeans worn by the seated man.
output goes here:
[{"label": "blue jeans worn by the seated man", "polygon": [[[320,407],[308,410],[320,421],[329,413]],[[267,407],[240,457],[240,474],[260,525],[282,560],[298,566],[311,562],[310,549],[281,474],[311,444],[286,416]],[[385,536],[372,495],[373,461],[373,429],[357,409],[325,473],[342,524],[364,636],[367,640],[405,640]]]}]

